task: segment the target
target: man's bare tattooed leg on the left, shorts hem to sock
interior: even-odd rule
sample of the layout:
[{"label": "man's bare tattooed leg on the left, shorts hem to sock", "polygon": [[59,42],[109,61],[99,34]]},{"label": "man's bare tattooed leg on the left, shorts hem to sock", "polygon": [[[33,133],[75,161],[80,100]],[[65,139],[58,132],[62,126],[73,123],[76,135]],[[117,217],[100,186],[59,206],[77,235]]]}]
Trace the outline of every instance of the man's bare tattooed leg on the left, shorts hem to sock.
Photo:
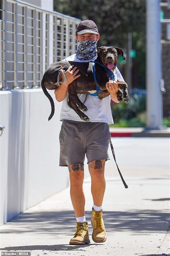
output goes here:
[{"label": "man's bare tattooed leg on the left, shorts hem to sock", "polygon": [[85,216],[85,197],[82,188],[84,165],[69,165],[70,196],[76,217]]}]

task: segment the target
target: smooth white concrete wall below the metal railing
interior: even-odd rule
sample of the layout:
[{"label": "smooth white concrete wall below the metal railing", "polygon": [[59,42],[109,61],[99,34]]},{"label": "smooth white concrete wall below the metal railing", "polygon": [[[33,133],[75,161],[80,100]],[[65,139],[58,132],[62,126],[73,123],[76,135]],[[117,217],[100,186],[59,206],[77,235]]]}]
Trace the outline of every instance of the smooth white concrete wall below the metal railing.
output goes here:
[{"label": "smooth white concrete wall below the metal railing", "polygon": [[48,122],[51,105],[42,89],[0,91],[0,225],[69,185],[59,167],[60,110]]}]

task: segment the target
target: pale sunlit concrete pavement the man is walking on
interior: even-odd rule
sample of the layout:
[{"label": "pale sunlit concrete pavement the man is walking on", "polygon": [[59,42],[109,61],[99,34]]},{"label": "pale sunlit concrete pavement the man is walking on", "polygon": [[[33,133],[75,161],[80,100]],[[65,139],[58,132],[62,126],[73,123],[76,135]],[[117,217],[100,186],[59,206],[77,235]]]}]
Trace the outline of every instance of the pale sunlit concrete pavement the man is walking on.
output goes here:
[{"label": "pale sunlit concrete pavement the man is walking on", "polygon": [[[136,165],[136,161],[141,160],[141,154],[137,152],[139,140],[140,151],[143,152],[140,166]],[[118,166],[128,188],[124,188],[114,161],[107,161],[105,172],[107,185],[103,202],[103,216],[107,230],[105,243],[96,244],[91,239],[90,219],[93,200],[90,178],[85,168],[85,209],[90,244],[69,245],[75,233],[75,216],[67,188],[4,224],[1,227],[0,250],[30,251],[32,256],[132,256],[163,253],[170,255],[169,170],[166,159],[168,139],[114,138],[113,142]],[[123,145],[127,154],[122,159]],[[153,148],[156,145],[160,151],[155,151],[153,155]],[[131,150],[128,152],[127,148]],[[163,148],[165,151],[162,150]],[[151,151],[150,157],[146,157]],[[159,157],[162,162],[159,162]]]}]

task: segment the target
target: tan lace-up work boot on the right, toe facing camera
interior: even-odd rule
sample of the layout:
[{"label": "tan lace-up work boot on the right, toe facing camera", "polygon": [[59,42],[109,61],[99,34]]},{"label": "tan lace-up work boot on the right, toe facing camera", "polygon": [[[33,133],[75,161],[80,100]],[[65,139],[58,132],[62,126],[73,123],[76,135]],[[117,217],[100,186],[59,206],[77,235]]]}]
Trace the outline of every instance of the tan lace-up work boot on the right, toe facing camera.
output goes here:
[{"label": "tan lace-up work boot on the right, toe facing camera", "polygon": [[103,210],[97,212],[92,208],[91,226],[93,227],[92,239],[96,243],[106,241],[107,235],[103,222]]}]

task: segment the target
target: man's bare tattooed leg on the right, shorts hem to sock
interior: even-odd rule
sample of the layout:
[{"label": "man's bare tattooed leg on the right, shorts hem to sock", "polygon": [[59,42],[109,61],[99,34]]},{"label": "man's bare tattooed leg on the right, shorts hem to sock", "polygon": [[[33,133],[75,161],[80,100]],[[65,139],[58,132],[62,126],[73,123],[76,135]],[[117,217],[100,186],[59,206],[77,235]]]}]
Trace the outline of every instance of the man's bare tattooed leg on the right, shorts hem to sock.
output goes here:
[{"label": "man's bare tattooed leg on the right, shorts hem to sock", "polygon": [[[104,166],[105,159],[95,160],[88,163],[91,176],[91,194],[96,206],[101,206],[105,192]],[[100,189],[99,189],[100,188]]]}]

